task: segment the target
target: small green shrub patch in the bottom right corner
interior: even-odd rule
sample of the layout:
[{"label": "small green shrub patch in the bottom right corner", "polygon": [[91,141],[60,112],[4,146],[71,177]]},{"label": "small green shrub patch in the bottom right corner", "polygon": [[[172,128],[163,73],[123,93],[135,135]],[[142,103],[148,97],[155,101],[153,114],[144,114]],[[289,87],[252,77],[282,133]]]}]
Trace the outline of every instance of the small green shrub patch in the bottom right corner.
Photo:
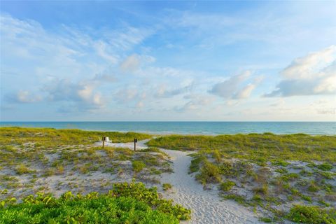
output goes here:
[{"label": "small green shrub patch in the bottom right corner", "polygon": [[290,209],[287,218],[290,221],[297,223],[309,224],[335,224],[336,223],[336,210],[335,209],[321,209],[316,206],[302,206],[295,205]]}]

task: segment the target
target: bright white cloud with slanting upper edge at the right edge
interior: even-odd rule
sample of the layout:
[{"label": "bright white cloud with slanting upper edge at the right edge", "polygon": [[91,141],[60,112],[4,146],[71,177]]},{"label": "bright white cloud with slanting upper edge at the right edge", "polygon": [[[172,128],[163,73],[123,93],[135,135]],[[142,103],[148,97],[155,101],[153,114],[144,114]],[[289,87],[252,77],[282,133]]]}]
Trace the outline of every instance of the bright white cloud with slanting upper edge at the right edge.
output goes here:
[{"label": "bright white cloud with slanting upper edge at the right edge", "polygon": [[284,79],[265,97],[336,94],[336,46],[295,59],[281,74]]}]

